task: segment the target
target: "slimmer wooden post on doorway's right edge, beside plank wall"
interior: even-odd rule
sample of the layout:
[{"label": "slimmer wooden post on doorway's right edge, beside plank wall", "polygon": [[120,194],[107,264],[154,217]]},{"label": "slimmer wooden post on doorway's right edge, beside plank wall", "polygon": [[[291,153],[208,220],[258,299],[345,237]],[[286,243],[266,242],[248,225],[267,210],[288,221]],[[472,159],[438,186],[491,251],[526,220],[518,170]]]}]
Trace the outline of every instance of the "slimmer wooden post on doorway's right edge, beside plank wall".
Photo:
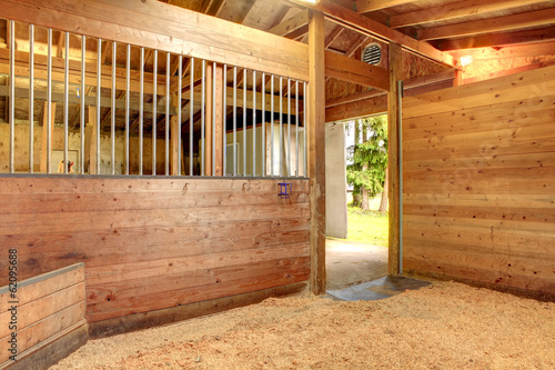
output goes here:
[{"label": "slimmer wooden post on doorway's right edge, beside plank wall", "polygon": [[387,94],[387,132],[389,132],[389,196],[390,196],[390,274],[398,274],[400,234],[398,234],[398,98],[397,80],[402,76],[401,46],[391,42],[389,51],[390,93]]}]

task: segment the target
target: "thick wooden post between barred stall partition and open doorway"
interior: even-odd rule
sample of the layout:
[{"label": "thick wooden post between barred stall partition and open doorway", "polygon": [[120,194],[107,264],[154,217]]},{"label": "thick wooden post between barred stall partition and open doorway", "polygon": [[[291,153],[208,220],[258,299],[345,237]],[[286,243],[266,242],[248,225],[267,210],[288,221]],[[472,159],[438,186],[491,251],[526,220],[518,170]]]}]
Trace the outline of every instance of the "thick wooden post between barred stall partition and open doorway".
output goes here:
[{"label": "thick wooden post between barred stall partition and open doorway", "polygon": [[311,202],[311,290],[325,293],[325,63],[324,16],[309,26],[309,176]]}]

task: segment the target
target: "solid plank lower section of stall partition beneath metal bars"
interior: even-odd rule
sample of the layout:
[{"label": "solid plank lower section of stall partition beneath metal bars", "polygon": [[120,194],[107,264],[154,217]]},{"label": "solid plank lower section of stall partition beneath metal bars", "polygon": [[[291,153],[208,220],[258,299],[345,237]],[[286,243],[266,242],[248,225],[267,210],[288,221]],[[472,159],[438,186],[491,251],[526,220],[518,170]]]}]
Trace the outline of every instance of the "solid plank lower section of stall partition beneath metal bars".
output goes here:
[{"label": "solid plank lower section of stall partition beneath metal bars", "polygon": [[22,277],[84,262],[90,322],[285,286],[310,273],[309,183],[290,182],[0,178],[0,244]]}]

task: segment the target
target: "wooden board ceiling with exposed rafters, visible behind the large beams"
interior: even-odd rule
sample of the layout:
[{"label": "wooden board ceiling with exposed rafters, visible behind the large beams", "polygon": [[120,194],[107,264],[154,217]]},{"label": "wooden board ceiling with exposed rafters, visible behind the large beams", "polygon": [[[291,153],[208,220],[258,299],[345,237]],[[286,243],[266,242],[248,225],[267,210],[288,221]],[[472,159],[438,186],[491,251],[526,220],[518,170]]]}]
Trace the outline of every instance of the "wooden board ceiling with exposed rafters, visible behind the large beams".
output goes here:
[{"label": "wooden board ceiling with exposed rafters, visible behind the large beams", "polygon": [[[161,0],[306,42],[302,0]],[[331,0],[321,0],[331,2]],[[554,0],[334,0],[442,51],[555,39]],[[309,3],[306,3],[309,4]],[[329,22],[326,47],[352,54],[369,38]]]}]

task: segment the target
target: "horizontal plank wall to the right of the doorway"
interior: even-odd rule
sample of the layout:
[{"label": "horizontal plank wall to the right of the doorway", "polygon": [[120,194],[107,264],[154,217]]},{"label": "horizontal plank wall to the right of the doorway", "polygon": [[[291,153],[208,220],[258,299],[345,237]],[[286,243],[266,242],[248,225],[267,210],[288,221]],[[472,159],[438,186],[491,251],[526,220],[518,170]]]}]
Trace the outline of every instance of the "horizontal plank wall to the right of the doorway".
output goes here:
[{"label": "horizontal plank wall to the right of the doorway", "polygon": [[555,293],[555,67],[403,109],[405,270]]}]

